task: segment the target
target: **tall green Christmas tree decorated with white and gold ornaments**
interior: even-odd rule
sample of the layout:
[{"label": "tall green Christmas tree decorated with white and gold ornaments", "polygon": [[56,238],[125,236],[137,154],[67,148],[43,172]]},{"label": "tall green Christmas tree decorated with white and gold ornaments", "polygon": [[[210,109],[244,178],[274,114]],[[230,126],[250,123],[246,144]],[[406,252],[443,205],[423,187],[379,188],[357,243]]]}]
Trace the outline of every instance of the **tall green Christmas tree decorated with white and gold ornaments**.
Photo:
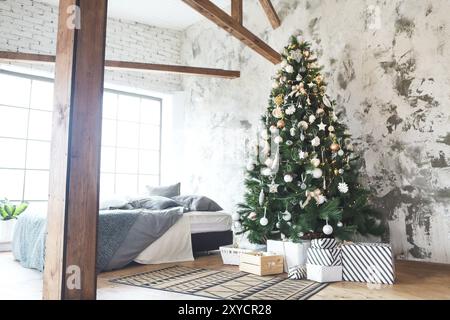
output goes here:
[{"label": "tall green Christmas tree decorated with white and gold ornaments", "polygon": [[250,242],[382,235],[379,215],[358,181],[351,135],[326,95],[322,68],[303,37],[285,47],[264,129],[247,165],[237,234]]}]

